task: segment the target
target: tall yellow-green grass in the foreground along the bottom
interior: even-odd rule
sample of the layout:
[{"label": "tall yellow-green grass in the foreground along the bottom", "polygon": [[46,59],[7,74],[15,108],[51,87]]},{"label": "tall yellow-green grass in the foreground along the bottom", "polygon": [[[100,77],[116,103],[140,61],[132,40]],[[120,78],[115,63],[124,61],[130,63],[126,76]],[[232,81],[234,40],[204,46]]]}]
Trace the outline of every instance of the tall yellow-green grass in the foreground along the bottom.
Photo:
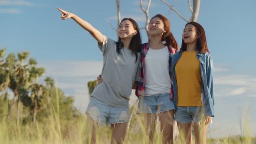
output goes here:
[{"label": "tall yellow-green grass in the foreground along the bottom", "polygon": [[[144,120],[140,115],[135,114],[135,111],[131,112],[131,123],[124,143],[149,144]],[[249,128],[249,125],[246,127]],[[96,134],[97,144],[110,144],[111,131],[107,127],[99,127]],[[79,115],[74,120],[63,121],[54,110],[51,111],[49,118],[35,124],[6,122],[5,118],[0,122],[0,144],[89,144],[90,137],[91,125],[84,116]],[[207,143],[255,144],[256,137],[251,137],[247,131],[244,136],[209,138]],[[154,134],[154,144],[161,144],[159,128]],[[175,139],[175,144],[184,144],[184,141],[178,137]]]}]

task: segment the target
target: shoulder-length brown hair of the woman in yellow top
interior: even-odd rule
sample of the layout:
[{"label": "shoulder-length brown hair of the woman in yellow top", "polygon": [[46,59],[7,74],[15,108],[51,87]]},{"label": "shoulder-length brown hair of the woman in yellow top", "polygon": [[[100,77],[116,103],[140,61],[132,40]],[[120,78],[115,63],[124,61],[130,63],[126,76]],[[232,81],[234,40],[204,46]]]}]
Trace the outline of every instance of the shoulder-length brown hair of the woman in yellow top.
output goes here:
[{"label": "shoulder-length brown hair of the woman in yellow top", "polygon": [[[201,26],[197,22],[189,22],[185,26],[187,26],[188,24],[191,24],[191,25],[193,25],[197,28],[196,29],[196,31],[197,31],[197,44],[196,44],[197,52],[200,52],[200,53],[209,52],[209,49],[207,47],[207,42],[206,42],[206,35],[205,35],[205,32],[204,32],[203,26]],[[187,44],[184,43],[183,38],[182,38],[182,43],[181,43],[181,50],[183,50],[183,51],[187,50]]]}]

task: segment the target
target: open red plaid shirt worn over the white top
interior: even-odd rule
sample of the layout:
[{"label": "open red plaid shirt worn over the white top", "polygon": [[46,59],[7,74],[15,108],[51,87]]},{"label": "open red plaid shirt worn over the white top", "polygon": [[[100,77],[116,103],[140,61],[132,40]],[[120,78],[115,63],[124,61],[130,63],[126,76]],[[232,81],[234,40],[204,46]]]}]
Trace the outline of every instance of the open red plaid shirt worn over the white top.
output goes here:
[{"label": "open red plaid shirt worn over the white top", "polygon": [[[173,86],[172,86],[172,76],[171,76],[171,57],[174,55],[176,50],[172,46],[167,46],[168,51],[169,51],[169,75],[171,78],[171,100],[174,101],[174,91],[173,91]],[[142,49],[141,49],[141,62],[139,64],[139,80],[138,80],[138,86],[135,91],[135,95],[139,98],[140,96],[144,96],[145,92],[145,59],[146,55],[148,53],[149,49],[149,43],[144,43],[142,44]]]}]

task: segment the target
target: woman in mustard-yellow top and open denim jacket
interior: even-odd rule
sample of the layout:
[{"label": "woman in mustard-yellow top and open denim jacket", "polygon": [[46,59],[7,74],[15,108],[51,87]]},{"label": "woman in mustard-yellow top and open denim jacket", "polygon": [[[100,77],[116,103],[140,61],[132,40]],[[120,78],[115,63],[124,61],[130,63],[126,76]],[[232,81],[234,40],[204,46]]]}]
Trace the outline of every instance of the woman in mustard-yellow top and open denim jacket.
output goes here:
[{"label": "woman in mustard-yellow top and open denim jacket", "polygon": [[172,57],[174,120],[188,144],[192,125],[196,144],[205,144],[208,124],[214,117],[213,60],[199,23],[187,23],[182,38],[181,50]]}]

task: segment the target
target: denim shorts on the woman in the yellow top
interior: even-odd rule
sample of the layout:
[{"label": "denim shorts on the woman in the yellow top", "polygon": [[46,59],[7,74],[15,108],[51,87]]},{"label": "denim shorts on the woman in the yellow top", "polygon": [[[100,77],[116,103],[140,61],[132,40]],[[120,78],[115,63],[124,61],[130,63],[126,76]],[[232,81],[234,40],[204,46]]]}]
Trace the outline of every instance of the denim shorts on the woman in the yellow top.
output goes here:
[{"label": "denim shorts on the woman in the yellow top", "polygon": [[203,120],[203,107],[178,107],[174,114],[174,120],[180,123],[190,123]]}]

